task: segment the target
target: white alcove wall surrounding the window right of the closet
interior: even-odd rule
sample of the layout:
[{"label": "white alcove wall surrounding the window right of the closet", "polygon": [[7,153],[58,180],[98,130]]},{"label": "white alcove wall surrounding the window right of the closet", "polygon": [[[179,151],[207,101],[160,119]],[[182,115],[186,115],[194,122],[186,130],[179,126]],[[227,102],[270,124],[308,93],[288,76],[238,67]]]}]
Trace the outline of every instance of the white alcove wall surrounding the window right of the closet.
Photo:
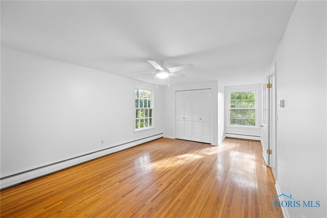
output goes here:
[{"label": "white alcove wall surrounding the window right of the closet", "polygon": [[[260,140],[262,124],[262,88],[261,84],[225,86],[225,132],[232,137]],[[253,90],[256,91],[256,122],[255,127],[237,127],[229,125],[229,93],[233,91]]]}]

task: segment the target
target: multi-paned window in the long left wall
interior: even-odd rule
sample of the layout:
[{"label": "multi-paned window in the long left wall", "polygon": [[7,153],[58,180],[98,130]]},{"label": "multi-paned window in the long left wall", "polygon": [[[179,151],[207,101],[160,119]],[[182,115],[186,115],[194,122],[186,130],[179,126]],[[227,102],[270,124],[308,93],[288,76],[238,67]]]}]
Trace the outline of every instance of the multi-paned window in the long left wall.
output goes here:
[{"label": "multi-paned window in the long left wall", "polygon": [[152,127],[152,91],[135,88],[135,130]]}]

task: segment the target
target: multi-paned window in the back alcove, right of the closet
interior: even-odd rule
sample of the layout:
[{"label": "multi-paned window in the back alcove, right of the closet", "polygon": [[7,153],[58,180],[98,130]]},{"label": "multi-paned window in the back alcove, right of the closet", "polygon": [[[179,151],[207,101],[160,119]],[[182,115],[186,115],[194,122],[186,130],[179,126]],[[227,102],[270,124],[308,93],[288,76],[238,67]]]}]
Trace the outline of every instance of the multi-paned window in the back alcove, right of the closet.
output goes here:
[{"label": "multi-paned window in the back alcove, right of the closet", "polygon": [[255,126],[255,91],[230,92],[229,124]]}]

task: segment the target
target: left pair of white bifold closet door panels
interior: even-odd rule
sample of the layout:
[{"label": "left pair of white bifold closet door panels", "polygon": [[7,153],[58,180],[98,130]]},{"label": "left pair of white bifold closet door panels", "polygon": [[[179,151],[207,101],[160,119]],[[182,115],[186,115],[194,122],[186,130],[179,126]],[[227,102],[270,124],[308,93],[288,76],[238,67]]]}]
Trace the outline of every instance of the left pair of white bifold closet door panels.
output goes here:
[{"label": "left pair of white bifold closet door panels", "polygon": [[192,140],[192,91],[176,91],[175,101],[175,137]]}]

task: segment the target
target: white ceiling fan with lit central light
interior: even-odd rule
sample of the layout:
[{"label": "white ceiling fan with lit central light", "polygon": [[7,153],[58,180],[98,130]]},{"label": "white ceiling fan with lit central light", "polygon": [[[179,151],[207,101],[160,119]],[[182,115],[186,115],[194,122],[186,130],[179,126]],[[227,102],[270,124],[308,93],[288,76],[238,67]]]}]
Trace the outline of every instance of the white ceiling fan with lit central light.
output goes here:
[{"label": "white ceiling fan with lit central light", "polygon": [[184,69],[189,69],[194,67],[193,64],[186,64],[186,65],[181,65],[181,66],[176,66],[176,67],[171,67],[168,68],[164,64],[159,64],[156,61],[149,61],[148,62],[156,69],[155,71],[131,71],[131,72],[151,72],[155,73],[155,77],[153,79],[166,79],[169,78],[170,76],[172,77],[185,77],[186,75],[180,74],[180,70]]}]

